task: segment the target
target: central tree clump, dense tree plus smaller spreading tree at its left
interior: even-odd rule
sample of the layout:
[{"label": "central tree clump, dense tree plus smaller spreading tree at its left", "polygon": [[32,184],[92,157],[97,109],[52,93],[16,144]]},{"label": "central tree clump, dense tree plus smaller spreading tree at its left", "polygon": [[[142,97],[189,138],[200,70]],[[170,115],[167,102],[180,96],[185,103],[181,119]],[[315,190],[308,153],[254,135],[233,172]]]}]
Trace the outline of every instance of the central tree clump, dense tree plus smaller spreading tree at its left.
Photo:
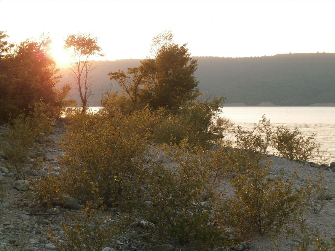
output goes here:
[{"label": "central tree clump, dense tree plus smaller spreading tree at its left", "polygon": [[155,109],[166,106],[173,110],[199,96],[199,81],[193,76],[197,60],[192,60],[187,44],[179,46],[173,34],[164,31],[153,38],[154,58],[141,61],[139,67],[128,68],[127,74],[118,70],[108,73],[116,80],[134,104],[147,104]]}]

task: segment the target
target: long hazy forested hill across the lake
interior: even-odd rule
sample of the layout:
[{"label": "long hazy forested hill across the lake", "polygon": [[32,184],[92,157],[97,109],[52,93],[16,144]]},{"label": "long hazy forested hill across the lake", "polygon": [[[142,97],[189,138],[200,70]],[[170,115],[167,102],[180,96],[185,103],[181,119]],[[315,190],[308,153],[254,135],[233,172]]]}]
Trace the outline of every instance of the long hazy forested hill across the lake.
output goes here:
[{"label": "long hazy forested hill across the lake", "polygon": [[[334,53],[279,54],[252,58],[193,57],[199,89],[208,96],[225,96],[226,103],[258,105],[270,102],[281,106],[306,106],[334,101]],[[137,59],[96,61],[92,73],[95,93],[109,88],[110,71],[136,67]],[[73,82],[66,72],[62,82]],[[116,84],[113,90],[120,90]],[[73,91],[73,93],[76,93]],[[98,105],[100,95],[91,98]],[[78,104],[80,102],[78,101]]]}]

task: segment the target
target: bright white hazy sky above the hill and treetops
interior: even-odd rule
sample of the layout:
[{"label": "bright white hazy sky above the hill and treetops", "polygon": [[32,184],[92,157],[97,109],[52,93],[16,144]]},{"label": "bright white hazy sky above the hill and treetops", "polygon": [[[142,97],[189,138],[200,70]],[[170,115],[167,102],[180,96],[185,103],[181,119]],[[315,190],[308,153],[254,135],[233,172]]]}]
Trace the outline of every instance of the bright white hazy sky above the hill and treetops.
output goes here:
[{"label": "bright white hazy sky above the hill and treetops", "polygon": [[106,57],[143,59],[171,29],[191,56],[334,52],[335,1],[1,1],[1,30],[19,43],[91,32]]}]

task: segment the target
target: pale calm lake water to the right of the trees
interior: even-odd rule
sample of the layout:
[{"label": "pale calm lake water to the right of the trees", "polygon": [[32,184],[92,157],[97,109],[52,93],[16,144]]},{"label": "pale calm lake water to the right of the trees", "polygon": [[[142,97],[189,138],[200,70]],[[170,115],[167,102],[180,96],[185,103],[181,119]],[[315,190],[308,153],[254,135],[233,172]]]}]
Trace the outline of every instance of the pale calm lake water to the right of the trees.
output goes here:
[{"label": "pale calm lake water to the right of the trees", "polygon": [[[335,107],[311,107],[311,106],[239,106],[223,107],[221,116],[229,118],[244,130],[252,130],[255,123],[262,119],[262,114],[270,119],[272,126],[277,127],[284,124],[290,129],[297,127],[304,136],[308,137],[317,133],[315,140],[320,142],[320,156],[316,156],[314,161],[330,163],[335,159]],[[226,139],[235,142],[233,135],[226,135]],[[269,149],[270,153],[275,153],[275,149]]]}]

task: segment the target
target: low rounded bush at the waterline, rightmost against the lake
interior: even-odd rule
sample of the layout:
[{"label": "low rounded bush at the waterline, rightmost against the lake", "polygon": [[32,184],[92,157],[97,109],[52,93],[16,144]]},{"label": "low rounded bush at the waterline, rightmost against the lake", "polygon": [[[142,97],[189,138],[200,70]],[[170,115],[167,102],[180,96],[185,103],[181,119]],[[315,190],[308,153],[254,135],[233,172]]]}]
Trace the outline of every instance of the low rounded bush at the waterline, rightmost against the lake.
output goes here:
[{"label": "low rounded bush at the waterline, rightmost against the lake", "polygon": [[303,133],[296,127],[292,131],[283,125],[273,132],[272,146],[278,150],[280,156],[305,163],[319,152],[320,144],[315,142],[315,135],[304,138]]}]

